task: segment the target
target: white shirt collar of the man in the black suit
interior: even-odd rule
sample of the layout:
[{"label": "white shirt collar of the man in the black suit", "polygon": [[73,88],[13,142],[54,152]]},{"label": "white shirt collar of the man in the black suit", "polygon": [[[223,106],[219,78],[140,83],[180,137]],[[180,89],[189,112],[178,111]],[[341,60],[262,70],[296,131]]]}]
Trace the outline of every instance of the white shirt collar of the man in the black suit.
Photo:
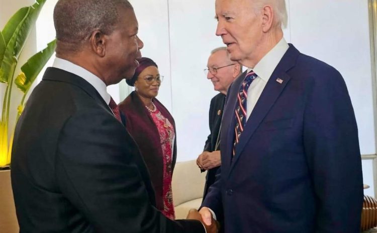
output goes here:
[{"label": "white shirt collar of the man in the black suit", "polygon": [[67,60],[61,58],[55,58],[52,67],[68,71],[72,74],[75,74],[81,78],[83,78],[86,82],[88,82],[91,86],[93,86],[97,92],[101,95],[101,97],[105,100],[107,104],[110,103],[110,95],[106,91],[106,84],[96,75],[90,73],[89,71],[85,70],[84,68],[77,66]]}]

